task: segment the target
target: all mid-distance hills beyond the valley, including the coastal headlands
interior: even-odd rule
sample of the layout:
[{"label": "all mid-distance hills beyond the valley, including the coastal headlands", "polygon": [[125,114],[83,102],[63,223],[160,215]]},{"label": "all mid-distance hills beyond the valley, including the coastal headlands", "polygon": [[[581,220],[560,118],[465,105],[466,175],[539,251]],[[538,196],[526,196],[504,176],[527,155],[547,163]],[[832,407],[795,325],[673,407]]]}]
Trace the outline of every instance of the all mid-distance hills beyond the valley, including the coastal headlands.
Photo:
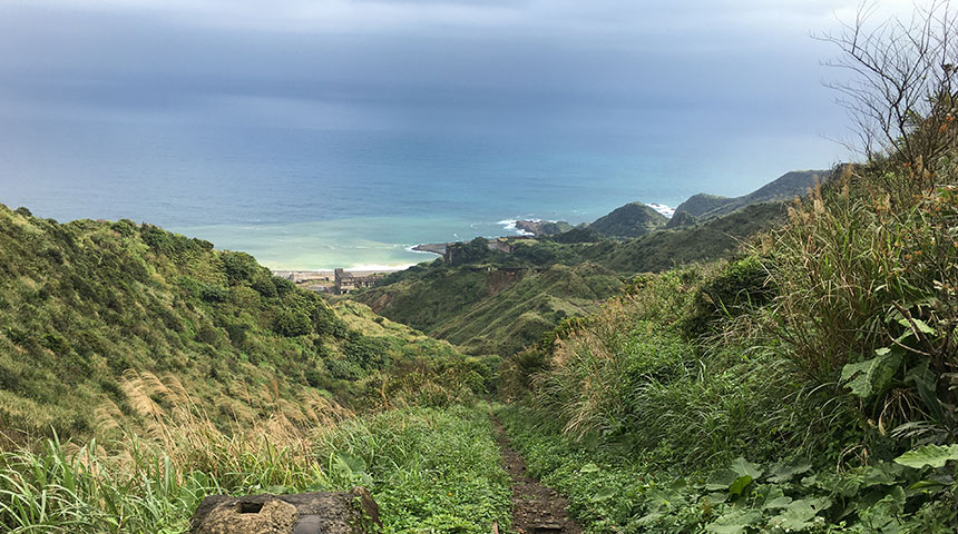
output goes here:
[{"label": "all mid-distance hills beyond the valley, including the coastal headlands", "polygon": [[521,228],[538,233],[534,239],[509,239],[495,250],[480,239],[461,261],[420,264],[349,298],[468,354],[508,356],[561,319],[594,312],[638,273],[727,257],[784,221],[784,200],[825,175],[789,172],[739,198],[696,195],[671,220],[632,202],[551,236],[529,225]]}]

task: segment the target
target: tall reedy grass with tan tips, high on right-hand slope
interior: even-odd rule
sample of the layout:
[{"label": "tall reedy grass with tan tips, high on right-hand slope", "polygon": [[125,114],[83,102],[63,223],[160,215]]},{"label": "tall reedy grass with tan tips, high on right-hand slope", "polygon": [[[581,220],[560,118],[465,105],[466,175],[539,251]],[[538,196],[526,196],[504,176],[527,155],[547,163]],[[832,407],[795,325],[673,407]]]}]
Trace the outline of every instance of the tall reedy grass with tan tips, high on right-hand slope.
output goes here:
[{"label": "tall reedy grass with tan tips, high on right-hand slope", "polygon": [[932,419],[954,441],[956,175],[948,166],[874,172],[847,167],[828,190],[796,202],[774,234],[763,258],[780,288],[769,335],[822,385],[843,387],[844,366],[895,350],[889,379],[862,395],[863,415],[880,429]]}]

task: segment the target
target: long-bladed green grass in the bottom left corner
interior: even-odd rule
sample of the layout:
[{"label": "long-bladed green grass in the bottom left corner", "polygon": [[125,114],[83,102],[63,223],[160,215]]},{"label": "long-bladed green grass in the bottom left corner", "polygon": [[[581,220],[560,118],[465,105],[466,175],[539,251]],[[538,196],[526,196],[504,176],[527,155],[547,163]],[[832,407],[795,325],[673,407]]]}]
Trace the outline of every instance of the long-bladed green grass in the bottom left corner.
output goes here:
[{"label": "long-bladed green grass in the bottom left corner", "polygon": [[215,477],[180,472],[158,448],[130,444],[118,463],[90,443],[58,439],[40,452],[0,454],[0,525],[7,532],[173,533],[189,511],[224,488]]}]

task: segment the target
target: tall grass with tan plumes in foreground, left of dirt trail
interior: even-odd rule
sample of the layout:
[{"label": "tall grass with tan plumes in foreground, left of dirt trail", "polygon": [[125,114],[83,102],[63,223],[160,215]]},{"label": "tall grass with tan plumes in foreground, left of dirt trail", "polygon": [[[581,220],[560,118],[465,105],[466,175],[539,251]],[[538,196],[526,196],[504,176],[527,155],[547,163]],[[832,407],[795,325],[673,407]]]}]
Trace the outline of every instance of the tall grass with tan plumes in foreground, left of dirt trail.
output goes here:
[{"label": "tall grass with tan plumes in foreground, left of dirt trail", "polygon": [[[127,373],[123,387],[137,415],[101,406],[101,441],[52,438],[0,453],[0,531],[179,533],[211,494],[356,484],[379,502],[385,532],[485,533],[492,521],[508,525],[508,476],[480,408],[407,407],[355,417],[320,396],[304,396],[290,409],[267,387],[258,392],[265,395],[260,419],[224,429],[175,377]],[[293,421],[306,414],[313,414],[307,424]]]}]

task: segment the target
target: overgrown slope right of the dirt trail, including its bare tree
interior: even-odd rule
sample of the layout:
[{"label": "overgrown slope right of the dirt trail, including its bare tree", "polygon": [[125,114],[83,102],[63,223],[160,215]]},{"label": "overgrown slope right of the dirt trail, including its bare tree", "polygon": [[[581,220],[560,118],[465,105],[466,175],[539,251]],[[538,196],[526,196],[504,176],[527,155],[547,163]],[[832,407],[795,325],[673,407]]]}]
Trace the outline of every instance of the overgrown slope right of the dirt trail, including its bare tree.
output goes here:
[{"label": "overgrown slope right of the dirt trail, including its bare tree", "polygon": [[501,416],[588,532],[958,528],[958,55],[947,3],[915,20],[845,50],[926,90],[886,151],[509,360]]}]

